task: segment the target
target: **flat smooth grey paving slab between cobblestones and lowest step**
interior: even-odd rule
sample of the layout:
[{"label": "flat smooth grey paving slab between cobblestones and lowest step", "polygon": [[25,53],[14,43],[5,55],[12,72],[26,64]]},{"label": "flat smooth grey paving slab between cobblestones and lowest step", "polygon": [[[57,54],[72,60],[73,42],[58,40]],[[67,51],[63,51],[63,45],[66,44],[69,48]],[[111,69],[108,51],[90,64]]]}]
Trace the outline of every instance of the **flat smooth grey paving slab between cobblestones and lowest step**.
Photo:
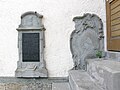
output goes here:
[{"label": "flat smooth grey paving slab between cobblestones and lowest step", "polygon": [[52,90],[71,90],[69,83],[53,83]]}]

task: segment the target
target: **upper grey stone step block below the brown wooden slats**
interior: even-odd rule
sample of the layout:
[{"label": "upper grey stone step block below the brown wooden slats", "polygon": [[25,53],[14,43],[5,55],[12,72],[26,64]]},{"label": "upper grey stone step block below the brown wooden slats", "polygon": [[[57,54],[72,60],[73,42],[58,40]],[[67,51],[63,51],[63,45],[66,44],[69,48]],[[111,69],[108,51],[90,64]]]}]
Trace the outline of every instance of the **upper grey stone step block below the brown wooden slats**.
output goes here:
[{"label": "upper grey stone step block below the brown wooden slats", "polygon": [[87,72],[104,90],[120,90],[120,62],[104,59],[88,59]]}]

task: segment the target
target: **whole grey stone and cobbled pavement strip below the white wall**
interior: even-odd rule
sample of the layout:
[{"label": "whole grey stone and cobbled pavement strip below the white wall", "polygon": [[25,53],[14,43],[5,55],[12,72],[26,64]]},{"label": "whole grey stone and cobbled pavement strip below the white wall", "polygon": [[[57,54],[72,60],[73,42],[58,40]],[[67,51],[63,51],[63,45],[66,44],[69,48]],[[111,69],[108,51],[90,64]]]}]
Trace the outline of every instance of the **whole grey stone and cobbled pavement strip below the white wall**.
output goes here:
[{"label": "whole grey stone and cobbled pavement strip below the white wall", "polygon": [[[63,89],[62,89],[63,87]],[[67,79],[0,77],[0,90],[69,90]]]}]

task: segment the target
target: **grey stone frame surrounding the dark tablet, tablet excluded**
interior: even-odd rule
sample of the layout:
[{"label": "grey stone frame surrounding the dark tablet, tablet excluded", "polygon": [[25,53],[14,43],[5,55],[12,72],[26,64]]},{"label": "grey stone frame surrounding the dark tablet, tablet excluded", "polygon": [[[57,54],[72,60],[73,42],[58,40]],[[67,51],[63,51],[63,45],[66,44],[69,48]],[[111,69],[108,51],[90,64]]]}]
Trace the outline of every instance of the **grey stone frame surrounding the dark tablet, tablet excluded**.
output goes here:
[{"label": "grey stone frame surrounding the dark tablet, tablet excluded", "polygon": [[[43,16],[38,14],[37,12],[26,12],[21,16],[21,24],[19,25],[19,28],[17,28],[19,61],[17,62],[17,69],[15,71],[16,77],[48,77],[48,72],[45,67],[46,65],[44,61],[45,28],[42,25],[42,17]],[[39,20],[37,21],[37,19],[34,20],[33,18],[34,19],[37,18]],[[26,21],[24,19],[26,19]],[[27,21],[31,21],[31,22],[27,22]],[[40,54],[39,60],[40,61],[23,62],[22,60],[22,34],[23,33],[39,33],[39,54]]]}]

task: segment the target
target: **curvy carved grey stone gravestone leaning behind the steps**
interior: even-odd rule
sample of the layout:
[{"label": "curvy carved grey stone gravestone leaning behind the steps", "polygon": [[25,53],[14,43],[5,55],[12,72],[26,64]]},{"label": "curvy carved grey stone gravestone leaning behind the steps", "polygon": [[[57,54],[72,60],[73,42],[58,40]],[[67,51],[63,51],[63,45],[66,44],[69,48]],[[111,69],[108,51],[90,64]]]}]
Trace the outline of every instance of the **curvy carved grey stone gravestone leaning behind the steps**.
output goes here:
[{"label": "curvy carved grey stone gravestone leaning behind the steps", "polygon": [[74,17],[75,30],[71,34],[70,49],[73,69],[86,69],[85,60],[96,58],[96,51],[104,51],[103,23],[95,14]]}]

